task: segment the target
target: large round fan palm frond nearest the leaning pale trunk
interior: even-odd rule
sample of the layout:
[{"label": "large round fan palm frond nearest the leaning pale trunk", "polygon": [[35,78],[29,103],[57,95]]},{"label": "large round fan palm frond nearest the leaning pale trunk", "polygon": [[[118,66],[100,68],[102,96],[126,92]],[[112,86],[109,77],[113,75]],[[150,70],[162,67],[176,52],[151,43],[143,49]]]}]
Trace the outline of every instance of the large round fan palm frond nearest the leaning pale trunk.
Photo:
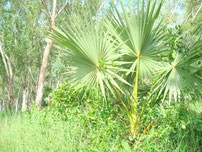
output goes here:
[{"label": "large round fan palm frond nearest the leaning pale trunk", "polygon": [[[122,91],[118,81],[130,85],[118,75],[127,69],[118,67],[125,64],[117,61],[120,54],[116,51],[120,43],[104,28],[103,20],[95,19],[90,14],[78,15],[71,19],[74,24],[64,28],[54,28],[50,38],[67,48],[68,77],[76,87],[100,87],[105,95],[105,86],[111,91],[117,88]],[[113,87],[112,87],[113,85]]]}]

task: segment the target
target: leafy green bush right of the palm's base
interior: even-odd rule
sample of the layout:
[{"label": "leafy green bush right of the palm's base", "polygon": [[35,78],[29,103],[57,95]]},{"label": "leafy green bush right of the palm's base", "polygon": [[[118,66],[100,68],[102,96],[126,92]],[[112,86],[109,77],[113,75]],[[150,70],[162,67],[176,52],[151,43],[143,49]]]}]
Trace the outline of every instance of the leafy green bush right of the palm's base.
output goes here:
[{"label": "leafy green bush right of the palm's base", "polygon": [[[149,107],[149,106],[148,106]],[[152,129],[136,142],[136,151],[199,152],[202,143],[201,103],[174,103],[147,108],[142,121]],[[143,122],[142,122],[143,123]]]}]

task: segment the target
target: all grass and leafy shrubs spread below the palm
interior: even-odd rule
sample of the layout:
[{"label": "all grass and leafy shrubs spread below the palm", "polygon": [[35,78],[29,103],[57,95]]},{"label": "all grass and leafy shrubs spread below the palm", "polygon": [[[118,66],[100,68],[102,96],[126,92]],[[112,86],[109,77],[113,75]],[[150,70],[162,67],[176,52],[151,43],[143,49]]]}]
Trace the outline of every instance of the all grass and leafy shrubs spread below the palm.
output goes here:
[{"label": "all grass and leafy shrubs spread below the palm", "polygon": [[148,104],[141,124],[152,121],[151,129],[132,141],[111,100],[62,84],[47,109],[0,113],[0,151],[200,151],[201,103]]}]

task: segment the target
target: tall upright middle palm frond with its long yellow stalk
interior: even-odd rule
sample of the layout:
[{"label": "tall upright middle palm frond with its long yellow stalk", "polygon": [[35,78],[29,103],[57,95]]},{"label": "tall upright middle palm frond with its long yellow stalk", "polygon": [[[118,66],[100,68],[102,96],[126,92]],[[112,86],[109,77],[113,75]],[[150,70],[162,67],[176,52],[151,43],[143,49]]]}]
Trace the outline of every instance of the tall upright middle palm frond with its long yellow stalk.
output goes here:
[{"label": "tall upright middle palm frond with its long yellow stalk", "polygon": [[123,49],[132,57],[130,71],[135,72],[133,100],[129,105],[129,121],[131,132],[135,132],[137,123],[137,101],[138,101],[138,84],[145,77],[151,77],[157,68],[157,58],[164,46],[162,39],[164,31],[161,28],[161,22],[156,24],[156,19],[162,6],[162,1],[145,0],[128,1],[128,6],[124,5],[121,0],[121,11],[114,8],[107,14],[111,24],[107,22],[106,26],[110,31],[116,31],[122,41],[126,41]]}]

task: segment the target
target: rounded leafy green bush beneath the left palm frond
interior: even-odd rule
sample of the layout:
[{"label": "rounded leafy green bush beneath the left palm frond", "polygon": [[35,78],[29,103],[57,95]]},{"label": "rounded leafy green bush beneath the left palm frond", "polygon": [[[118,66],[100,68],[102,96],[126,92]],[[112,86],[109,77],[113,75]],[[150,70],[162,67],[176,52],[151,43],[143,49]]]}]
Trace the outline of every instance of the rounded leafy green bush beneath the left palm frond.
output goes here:
[{"label": "rounded leafy green bush beneath the left palm frond", "polygon": [[109,97],[111,102],[106,102],[100,90],[75,90],[67,83],[53,91],[49,99],[49,109],[63,120],[68,120],[68,115],[73,114],[84,116],[84,119],[88,117],[92,121],[100,117],[104,121],[114,117],[113,113],[117,112],[115,101]]}]

